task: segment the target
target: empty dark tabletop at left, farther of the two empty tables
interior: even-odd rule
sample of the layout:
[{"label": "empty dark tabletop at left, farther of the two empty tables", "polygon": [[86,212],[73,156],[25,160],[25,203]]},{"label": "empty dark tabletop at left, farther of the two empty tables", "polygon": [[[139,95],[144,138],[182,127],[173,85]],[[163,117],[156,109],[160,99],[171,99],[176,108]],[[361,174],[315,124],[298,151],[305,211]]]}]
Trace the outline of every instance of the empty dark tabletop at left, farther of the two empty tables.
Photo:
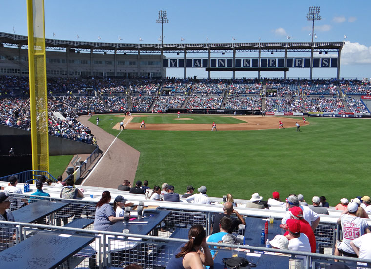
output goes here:
[{"label": "empty dark tabletop at left, farther of the two empty tables", "polygon": [[69,202],[38,201],[13,211],[16,222],[33,223],[69,205]]}]

